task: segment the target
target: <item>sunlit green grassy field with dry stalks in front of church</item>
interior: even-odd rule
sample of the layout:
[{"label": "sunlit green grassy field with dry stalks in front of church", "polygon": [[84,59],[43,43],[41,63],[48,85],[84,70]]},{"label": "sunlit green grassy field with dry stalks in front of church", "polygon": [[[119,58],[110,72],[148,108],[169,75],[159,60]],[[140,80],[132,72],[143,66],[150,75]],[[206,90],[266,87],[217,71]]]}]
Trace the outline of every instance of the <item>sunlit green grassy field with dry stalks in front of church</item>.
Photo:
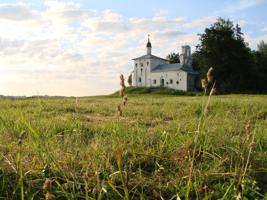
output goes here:
[{"label": "sunlit green grassy field with dry stalks in front of church", "polygon": [[118,94],[0,100],[0,197],[266,199],[266,100],[132,94],[122,117]]}]

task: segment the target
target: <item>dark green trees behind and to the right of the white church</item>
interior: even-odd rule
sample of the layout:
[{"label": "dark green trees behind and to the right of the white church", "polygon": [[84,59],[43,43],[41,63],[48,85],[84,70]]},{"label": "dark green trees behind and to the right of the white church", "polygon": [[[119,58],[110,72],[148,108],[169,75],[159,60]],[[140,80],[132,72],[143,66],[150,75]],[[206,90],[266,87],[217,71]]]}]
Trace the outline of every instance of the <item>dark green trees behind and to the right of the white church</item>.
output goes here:
[{"label": "dark green trees behind and to the right of the white church", "polygon": [[[201,78],[213,67],[217,94],[267,93],[267,44],[260,41],[258,50],[251,50],[242,37],[238,24],[217,18],[210,28],[199,35],[200,43],[193,56],[193,69]],[[179,53],[166,56],[167,63],[178,63]],[[210,86],[212,86],[210,84]]]}]

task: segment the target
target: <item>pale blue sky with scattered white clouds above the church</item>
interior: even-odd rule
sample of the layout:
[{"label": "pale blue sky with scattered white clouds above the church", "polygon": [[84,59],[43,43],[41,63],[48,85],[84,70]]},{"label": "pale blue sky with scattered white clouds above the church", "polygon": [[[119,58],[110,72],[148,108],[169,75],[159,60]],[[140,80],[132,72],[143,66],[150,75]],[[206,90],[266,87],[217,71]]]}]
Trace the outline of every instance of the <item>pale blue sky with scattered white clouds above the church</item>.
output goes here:
[{"label": "pale blue sky with scattered white clouds above the church", "polygon": [[[133,58],[191,52],[216,18],[238,23],[257,50],[267,42],[267,1],[0,0],[0,94],[93,96],[127,84]],[[194,61],[193,61],[194,63]]]}]

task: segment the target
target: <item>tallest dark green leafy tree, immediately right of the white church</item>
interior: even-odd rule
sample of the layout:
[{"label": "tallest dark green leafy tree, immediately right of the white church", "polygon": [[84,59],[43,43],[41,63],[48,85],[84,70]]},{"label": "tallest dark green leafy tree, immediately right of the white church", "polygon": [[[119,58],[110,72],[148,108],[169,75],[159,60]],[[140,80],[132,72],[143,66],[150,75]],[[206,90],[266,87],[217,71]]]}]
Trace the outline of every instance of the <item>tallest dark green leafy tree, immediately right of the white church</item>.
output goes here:
[{"label": "tallest dark green leafy tree, immediately right of the white church", "polygon": [[229,19],[219,17],[205,29],[205,33],[198,35],[200,44],[196,46],[194,59],[201,77],[205,78],[209,68],[213,67],[217,94],[246,91],[250,84],[248,74],[252,59],[238,24],[234,27]]}]

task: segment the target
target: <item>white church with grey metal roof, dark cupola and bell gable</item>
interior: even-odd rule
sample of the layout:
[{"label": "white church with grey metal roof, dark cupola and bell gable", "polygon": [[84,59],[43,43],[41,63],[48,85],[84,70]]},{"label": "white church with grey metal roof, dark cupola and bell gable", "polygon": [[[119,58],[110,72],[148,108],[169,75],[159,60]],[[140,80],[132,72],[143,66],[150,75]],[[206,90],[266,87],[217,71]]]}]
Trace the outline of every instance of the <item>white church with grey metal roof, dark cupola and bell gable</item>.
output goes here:
[{"label": "white church with grey metal roof, dark cupola and bell gable", "polygon": [[151,54],[149,36],[146,48],[146,55],[132,59],[132,86],[162,86],[183,91],[201,88],[200,76],[192,68],[190,46],[182,46],[180,63],[175,64],[166,64],[166,59]]}]

